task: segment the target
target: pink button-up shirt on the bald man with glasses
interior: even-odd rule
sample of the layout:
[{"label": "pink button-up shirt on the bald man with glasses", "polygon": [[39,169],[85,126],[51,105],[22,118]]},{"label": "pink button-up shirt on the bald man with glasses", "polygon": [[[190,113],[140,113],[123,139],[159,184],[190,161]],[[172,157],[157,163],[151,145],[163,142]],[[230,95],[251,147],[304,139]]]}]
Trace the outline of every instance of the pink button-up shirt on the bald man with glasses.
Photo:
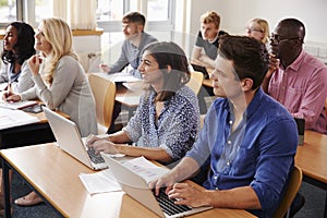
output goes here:
[{"label": "pink button-up shirt on the bald man with glasses", "polygon": [[272,74],[268,94],[293,117],[304,118],[306,129],[327,134],[327,66],[323,62],[302,51],[291,65]]}]

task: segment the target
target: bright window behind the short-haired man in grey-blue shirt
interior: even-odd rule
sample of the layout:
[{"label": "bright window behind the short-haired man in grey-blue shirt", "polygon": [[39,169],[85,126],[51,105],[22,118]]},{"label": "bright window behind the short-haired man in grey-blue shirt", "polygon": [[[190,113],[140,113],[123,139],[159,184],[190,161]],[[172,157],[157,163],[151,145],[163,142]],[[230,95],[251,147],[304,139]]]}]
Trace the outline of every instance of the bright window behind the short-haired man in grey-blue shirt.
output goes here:
[{"label": "bright window behind the short-haired man in grey-blue shirt", "polygon": [[130,11],[140,11],[146,17],[145,29],[159,40],[169,40],[173,29],[175,0],[97,0],[97,26],[104,28],[101,37],[102,60],[114,62],[124,40],[121,20]]}]

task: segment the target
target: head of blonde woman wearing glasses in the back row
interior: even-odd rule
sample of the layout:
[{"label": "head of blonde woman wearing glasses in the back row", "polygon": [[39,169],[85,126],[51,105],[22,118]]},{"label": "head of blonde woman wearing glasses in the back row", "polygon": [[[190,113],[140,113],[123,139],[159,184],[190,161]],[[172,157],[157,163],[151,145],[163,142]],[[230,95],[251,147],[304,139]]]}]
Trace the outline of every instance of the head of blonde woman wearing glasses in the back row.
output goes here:
[{"label": "head of blonde woman wearing glasses in the back row", "polygon": [[246,35],[256,38],[265,45],[269,45],[270,33],[268,22],[263,19],[251,20],[246,26]]}]

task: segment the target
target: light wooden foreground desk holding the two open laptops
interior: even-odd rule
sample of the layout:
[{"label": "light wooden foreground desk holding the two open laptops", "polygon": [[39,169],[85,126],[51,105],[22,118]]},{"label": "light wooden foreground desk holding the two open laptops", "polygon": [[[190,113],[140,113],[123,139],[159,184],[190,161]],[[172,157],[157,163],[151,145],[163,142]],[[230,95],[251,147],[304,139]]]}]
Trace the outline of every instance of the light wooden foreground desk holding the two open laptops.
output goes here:
[{"label": "light wooden foreground desk holding the two open laptops", "polygon": [[[11,217],[8,170],[15,170],[44,201],[62,217],[157,217],[123,192],[89,195],[78,174],[88,169],[55,144],[43,144],[0,150],[5,185],[5,211]],[[50,169],[50,171],[49,171]],[[254,217],[242,209],[215,208],[191,217]]]}]

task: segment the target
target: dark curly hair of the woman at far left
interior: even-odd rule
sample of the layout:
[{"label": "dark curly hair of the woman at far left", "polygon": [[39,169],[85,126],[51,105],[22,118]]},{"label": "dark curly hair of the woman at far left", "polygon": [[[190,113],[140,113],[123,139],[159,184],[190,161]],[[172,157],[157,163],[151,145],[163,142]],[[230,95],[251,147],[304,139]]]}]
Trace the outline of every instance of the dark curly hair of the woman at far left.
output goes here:
[{"label": "dark curly hair of the woman at far left", "polygon": [[17,43],[14,45],[16,53],[3,49],[1,59],[4,63],[14,63],[16,61],[22,65],[25,60],[36,53],[34,49],[35,32],[31,25],[24,22],[13,22],[8,26],[13,26],[17,29]]}]

